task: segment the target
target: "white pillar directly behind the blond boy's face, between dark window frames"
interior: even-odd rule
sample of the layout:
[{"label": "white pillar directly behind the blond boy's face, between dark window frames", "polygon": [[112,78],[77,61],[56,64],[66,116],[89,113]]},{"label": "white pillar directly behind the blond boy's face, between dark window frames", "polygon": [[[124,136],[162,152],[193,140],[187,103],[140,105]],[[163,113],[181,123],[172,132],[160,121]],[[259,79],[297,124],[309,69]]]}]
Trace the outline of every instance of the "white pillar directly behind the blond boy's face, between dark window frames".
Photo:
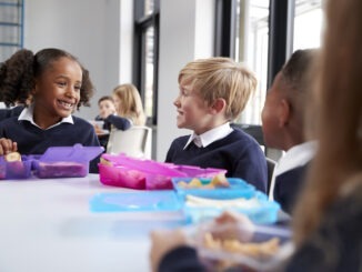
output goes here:
[{"label": "white pillar directly behind the blond boy's face, between dark window frames", "polygon": [[178,74],[187,62],[213,56],[213,0],[172,0],[160,6],[160,59],[157,155],[163,161],[172,140],[190,131],[177,128],[173,101]]}]

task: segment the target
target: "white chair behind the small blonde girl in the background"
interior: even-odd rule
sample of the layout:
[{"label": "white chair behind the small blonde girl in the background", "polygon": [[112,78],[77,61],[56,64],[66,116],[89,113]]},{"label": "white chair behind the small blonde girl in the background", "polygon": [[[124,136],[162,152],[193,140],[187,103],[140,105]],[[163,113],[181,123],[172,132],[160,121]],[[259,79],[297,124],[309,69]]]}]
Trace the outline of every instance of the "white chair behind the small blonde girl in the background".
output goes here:
[{"label": "white chair behind the small blonde girl in the background", "polygon": [[133,125],[129,130],[112,130],[107,144],[107,153],[124,153],[133,158],[151,159],[152,129]]}]

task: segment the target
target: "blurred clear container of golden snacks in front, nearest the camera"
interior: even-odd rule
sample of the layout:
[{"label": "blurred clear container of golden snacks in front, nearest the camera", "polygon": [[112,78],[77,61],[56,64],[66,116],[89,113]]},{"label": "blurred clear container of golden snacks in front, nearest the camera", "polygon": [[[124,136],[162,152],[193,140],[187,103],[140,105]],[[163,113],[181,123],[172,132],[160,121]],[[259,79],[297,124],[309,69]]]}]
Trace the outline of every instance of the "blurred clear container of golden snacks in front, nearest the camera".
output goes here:
[{"label": "blurred clear container of golden snacks in front, nearest the camera", "polygon": [[203,223],[189,239],[211,271],[279,271],[294,251],[289,229],[244,222]]}]

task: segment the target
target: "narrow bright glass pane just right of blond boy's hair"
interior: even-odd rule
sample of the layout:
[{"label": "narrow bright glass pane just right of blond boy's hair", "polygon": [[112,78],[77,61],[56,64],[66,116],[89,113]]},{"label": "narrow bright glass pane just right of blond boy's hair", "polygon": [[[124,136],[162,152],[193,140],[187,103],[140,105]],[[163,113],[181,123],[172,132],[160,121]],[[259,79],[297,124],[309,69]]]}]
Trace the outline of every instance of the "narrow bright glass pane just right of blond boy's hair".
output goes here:
[{"label": "narrow bright glass pane just right of blond boy's hair", "polygon": [[245,62],[258,78],[258,89],[251,97],[241,123],[261,124],[261,110],[267,92],[269,0],[238,0],[235,59]]}]

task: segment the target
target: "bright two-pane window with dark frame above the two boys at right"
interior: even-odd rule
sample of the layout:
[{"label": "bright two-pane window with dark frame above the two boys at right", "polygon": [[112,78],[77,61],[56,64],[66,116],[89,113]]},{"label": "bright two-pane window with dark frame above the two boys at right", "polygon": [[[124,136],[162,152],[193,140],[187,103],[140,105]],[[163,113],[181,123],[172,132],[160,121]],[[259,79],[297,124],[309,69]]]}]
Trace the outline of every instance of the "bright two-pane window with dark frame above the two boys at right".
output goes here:
[{"label": "bright two-pane window with dark frame above the two boys at right", "polygon": [[296,49],[320,46],[321,1],[237,0],[233,3],[237,6],[234,52],[229,57],[245,62],[259,81],[255,95],[238,122],[261,124],[267,90],[285,60]]}]

